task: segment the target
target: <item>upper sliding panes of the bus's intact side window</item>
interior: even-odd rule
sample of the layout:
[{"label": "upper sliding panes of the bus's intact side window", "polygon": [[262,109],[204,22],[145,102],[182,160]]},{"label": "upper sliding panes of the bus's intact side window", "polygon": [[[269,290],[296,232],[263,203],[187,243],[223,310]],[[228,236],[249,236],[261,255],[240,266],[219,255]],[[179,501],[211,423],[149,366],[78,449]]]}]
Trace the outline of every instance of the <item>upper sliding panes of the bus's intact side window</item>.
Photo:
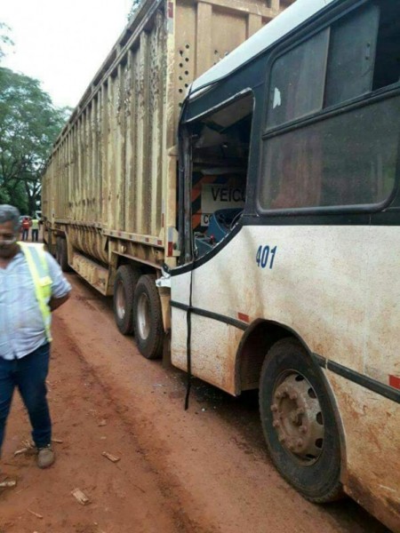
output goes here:
[{"label": "upper sliding panes of the bus's intact side window", "polygon": [[268,129],[399,82],[399,49],[400,5],[375,0],[285,52],[271,68]]}]

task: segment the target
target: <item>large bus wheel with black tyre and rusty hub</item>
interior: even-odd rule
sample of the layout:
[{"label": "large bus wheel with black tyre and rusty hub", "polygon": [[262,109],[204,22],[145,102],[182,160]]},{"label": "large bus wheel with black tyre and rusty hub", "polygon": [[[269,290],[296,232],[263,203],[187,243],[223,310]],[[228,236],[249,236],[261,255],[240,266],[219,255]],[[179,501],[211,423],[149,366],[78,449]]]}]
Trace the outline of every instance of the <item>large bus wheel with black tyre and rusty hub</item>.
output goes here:
[{"label": "large bus wheel with black tyre and rusty hub", "polygon": [[316,503],[342,496],[340,434],[324,375],[294,338],[272,346],[260,378],[260,416],[276,469]]}]

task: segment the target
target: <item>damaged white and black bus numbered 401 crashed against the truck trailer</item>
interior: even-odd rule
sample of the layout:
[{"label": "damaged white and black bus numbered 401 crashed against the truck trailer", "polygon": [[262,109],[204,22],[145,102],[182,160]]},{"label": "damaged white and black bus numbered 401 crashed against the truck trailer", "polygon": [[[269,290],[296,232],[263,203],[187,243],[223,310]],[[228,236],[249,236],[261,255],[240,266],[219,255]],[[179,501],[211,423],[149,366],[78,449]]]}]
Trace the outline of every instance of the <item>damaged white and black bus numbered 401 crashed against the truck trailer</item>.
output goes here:
[{"label": "damaged white and black bus numbered 401 crashed against the truck trailer", "polygon": [[298,0],[199,77],[170,280],[172,364],[259,388],[284,478],[314,502],[345,492],[394,531],[399,79],[398,0]]}]

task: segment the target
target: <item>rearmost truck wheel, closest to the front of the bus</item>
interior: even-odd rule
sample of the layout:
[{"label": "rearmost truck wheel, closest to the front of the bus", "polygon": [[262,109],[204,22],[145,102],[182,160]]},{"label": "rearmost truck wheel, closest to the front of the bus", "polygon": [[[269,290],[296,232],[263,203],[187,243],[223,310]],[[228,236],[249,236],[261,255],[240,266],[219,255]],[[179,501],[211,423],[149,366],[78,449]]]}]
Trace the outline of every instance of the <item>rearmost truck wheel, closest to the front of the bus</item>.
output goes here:
[{"label": "rearmost truck wheel, closest to the front of the bus", "polygon": [[133,298],[135,340],[146,359],[158,359],[163,353],[163,316],[155,282],[155,275],[142,275]]}]

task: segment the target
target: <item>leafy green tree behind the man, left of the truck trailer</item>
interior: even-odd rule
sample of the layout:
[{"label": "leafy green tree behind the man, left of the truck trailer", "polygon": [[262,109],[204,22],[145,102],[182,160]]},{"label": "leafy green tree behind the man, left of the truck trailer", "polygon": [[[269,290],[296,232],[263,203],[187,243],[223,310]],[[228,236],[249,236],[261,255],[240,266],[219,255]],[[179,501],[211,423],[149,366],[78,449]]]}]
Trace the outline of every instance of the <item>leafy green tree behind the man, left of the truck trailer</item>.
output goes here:
[{"label": "leafy green tree behind the man, left of the truck trailer", "polygon": [[69,108],[56,108],[34,78],[0,68],[0,201],[33,215],[41,174]]}]

